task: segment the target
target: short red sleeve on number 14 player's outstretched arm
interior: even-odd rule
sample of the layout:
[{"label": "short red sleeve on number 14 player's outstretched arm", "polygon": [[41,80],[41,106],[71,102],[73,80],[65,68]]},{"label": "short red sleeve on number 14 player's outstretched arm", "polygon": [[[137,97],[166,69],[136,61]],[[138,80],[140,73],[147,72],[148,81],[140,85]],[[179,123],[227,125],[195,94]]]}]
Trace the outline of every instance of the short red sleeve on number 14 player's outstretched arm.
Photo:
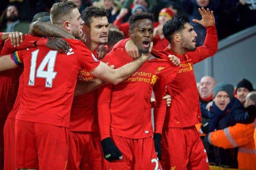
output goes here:
[{"label": "short red sleeve on number 14 player's outstretched arm", "polygon": [[96,67],[99,66],[100,61],[93,55],[93,53],[83,44],[80,43],[79,47],[82,51],[77,56],[81,64],[81,68],[85,68],[89,72],[93,71]]}]

